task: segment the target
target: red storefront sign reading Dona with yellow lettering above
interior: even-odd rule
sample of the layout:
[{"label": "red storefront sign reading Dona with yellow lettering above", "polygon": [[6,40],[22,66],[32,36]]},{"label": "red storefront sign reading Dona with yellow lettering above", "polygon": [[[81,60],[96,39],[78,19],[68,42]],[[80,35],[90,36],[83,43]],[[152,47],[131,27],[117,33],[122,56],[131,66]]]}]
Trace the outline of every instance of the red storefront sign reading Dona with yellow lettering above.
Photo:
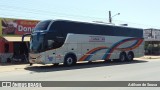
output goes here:
[{"label": "red storefront sign reading Dona with yellow lettering above", "polygon": [[31,33],[39,21],[2,18],[2,35]]}]

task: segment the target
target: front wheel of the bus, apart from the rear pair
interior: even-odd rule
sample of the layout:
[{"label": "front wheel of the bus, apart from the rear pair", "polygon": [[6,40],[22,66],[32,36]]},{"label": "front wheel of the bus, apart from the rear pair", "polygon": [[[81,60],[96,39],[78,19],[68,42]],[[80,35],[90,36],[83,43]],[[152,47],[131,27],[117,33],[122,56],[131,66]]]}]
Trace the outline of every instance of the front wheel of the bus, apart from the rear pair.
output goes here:
[{"label": "front wheel of the bus, apart from the rear pair", "polygon": [[76,64],[76,56],[73,54],[68,54],[64,58],[64,66],[73,66]]}]

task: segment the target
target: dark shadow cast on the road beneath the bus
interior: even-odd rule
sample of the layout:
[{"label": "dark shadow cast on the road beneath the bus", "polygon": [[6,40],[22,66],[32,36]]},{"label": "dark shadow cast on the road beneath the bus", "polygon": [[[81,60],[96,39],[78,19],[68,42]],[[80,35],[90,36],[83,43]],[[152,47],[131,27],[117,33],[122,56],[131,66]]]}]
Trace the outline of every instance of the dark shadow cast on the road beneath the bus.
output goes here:
[{"label": "dark shadow cast on the road beneath the bus", "polygon": [[90,63],[77,63],[75,66],[66,67],[63,65],[59,66],[28,66],[25,68],[25,70],[33,71],[33,72],[53,72],[53,71],[63,71],[63,70],[75,70],[75,69],[85,69],[85,68],[94,68],[94,67],[104,67],[104,66],[116,66],[116,65],[127,65],[127,64],[137,64],[137,63],[145,63],[148,61],[143,60],[134,60],[130,62],[118,62],[118,61],[112,61],[112,62],[90,62]]}]

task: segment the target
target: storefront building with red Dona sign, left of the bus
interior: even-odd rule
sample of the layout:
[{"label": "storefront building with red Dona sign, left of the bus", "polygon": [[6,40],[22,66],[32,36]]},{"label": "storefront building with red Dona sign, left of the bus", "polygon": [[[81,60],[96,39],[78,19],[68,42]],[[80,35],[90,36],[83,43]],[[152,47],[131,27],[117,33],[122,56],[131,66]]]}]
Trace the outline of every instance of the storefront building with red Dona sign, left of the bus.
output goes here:
[{"label": "storefront building with red Dona sign, left of the bus", "polygon": [[24,43],[21,38],[23,34],[31,33],[38,22],[0,18],[0,63],[11,62],[14,55],[27,55],[30,38],[25,38]]}]

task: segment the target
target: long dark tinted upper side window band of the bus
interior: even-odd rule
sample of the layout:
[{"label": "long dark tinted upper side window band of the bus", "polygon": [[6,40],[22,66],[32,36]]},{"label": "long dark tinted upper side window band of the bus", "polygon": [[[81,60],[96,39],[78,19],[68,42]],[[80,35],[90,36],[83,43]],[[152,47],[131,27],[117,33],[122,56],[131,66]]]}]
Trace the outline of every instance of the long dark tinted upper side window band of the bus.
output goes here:
[{"label": "long dark tinted upper side window band of the bus", "polygon": [[108,35],[108,36],[126,36],[143,38],[143,29],[128,28],[120,26],[100,25],[74,21],[55,21],[53,23],[57,33],[90,34],[90,35]]}]

